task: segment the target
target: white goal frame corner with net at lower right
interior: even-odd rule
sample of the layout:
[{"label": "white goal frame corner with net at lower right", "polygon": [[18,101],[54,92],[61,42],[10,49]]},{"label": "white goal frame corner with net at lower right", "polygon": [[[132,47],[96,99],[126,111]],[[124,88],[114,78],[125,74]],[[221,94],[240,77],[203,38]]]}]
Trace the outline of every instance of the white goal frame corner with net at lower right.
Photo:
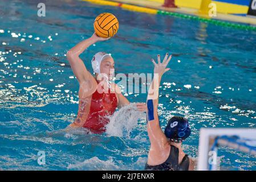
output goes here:
[{"label": "white goal frame corner with net at lower right", "polygon": [[[256,155],[256,129],[251,128],[201,128],[198,150],[198,171],[216,170],[217,164],[210,164],[217,146],[227,146]],[[215,152],[215,153],[214,153]],[[217,160],[217,159],[216,159]]]}]

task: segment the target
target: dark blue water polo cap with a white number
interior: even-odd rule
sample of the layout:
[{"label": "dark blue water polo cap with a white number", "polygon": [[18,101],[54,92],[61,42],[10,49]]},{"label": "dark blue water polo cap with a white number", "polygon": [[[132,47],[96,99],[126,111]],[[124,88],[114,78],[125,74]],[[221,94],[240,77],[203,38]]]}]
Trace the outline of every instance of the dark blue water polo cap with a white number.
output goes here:
[{"label": "dark blue water polo cap with a white number", "polygon": [[176,116],[170,118],[164,130],[165,136],[173,142],[184,141],[189,137],[190,133],[188,119]]}]

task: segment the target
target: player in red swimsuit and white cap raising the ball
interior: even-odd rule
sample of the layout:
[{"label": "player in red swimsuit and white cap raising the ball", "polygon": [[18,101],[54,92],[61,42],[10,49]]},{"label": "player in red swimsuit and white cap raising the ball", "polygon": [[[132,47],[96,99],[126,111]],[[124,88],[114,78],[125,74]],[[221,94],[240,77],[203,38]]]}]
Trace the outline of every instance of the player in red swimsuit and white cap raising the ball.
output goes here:
[{"label": "player in red swimsuit and white cap raising the ball", "polygon": [[[92,58],[92,68],[95,77],[87,71],[79,55],[92,44],[108,40],[93,34],[91,38],[83,40],[67,52],[67,59],[79,82],[78,116],[71,127],[85,127],[92,133],[103,133],[109,122],[108,115],[112,115],[117,107],[129,104],[127,98],[121,94],[119,86],[109,82],[112,78],[114,60],[111,55],[98,52]],[[144,103],[137,103],[137,109],[145,111]]]}]

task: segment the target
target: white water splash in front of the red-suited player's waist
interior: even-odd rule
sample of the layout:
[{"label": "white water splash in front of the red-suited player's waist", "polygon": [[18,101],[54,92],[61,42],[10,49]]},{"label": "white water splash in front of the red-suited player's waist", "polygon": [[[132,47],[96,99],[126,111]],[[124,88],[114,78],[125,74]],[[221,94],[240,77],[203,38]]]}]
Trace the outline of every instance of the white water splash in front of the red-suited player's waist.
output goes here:
[{"label": "white water splash in front of the red-suited player's waist", "polygon": [[128,137],[137,126],[138,119],[145,119],[145,113],[138,111],[136,103],[129,104],[109,117],[106,134],[109,137]]}]

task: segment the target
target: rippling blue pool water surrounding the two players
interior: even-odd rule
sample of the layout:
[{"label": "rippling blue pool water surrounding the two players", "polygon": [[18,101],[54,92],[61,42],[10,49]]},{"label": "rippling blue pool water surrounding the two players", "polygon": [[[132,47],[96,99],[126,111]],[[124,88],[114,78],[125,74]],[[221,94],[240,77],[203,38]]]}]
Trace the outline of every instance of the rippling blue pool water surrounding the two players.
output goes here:
[{"label": "rippling blue pool water surrounding the two players", "polygon": [[[189,119],[186,153],[197,157],[201,127],[255,128],[255,31],[73,0],[47,1],[46,16],[38,17],[38,3],[0,1],[0,169],[144,169],[145,113],[133,110],[127,120],[119,110],[111,120],[116,125],[103,135],[62,131],[76,118],[79,89],[65,54],[92,35],[103,12],[116,15],[119,31],[88,48],[84,63],[92,72],[92,55],[105,51],[115,59],[116,73],[152,73],[151,58],[172,53],[161,82],[160,122],[164,129],[173,115]],[[130,102],[146,97],[127,94]],[[39,151],[46,154],[44,165]],[[256,169],[252,155],[221,148],[219,156],[223,169]]]}]

